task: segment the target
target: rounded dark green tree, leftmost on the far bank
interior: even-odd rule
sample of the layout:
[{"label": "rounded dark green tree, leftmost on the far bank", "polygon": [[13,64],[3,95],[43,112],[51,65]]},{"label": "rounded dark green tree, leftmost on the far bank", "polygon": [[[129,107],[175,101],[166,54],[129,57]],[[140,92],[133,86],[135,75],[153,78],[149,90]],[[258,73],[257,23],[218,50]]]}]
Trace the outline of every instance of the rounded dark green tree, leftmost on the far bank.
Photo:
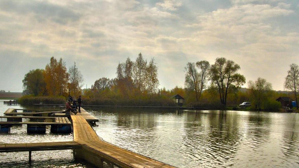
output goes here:
[{"label": "rounded dark green tree, leftmost on the far bank", "polygon": [[37,96],[44,95],[46,93],[43,69],[30,70],[26,73],[22,82],[24,88],[23,93],[25,94],[34,94],[34,96]]}]

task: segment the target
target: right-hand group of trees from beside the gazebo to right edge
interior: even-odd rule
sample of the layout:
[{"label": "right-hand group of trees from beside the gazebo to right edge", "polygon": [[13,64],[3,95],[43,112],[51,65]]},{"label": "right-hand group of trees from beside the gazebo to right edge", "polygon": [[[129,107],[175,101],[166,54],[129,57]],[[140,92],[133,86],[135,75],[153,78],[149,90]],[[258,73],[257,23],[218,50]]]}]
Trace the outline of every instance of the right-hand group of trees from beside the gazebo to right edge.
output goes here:
[{"label": "right-hand group of trees from beside the gazebo to right edge", "polygon": [[[218,101],[221,105],[226,106],[228,102],[229,105],[236,105],[238,102],[251,101],[252,108],[261,110],[271,108],[271,106],[277,107],[279,103],[275,100],[279,96],[288,96],[275,93],[272,84],[260,77],[256,81],[249,81],[248,89],[245,94],[242,93],[240,88],[245,84],[246,79],[238,73],[239,70],[238,64],[223,57],[216,58],[212,65],[206,60],[187,63],[184,89],[187,104],[213,104]],[[296,102],[298,87],[299,68],[298,65],[292,64],[287,72],[284,88],[292,91],[293,100]],[[203,94],[204,97],[201,97]]]}]

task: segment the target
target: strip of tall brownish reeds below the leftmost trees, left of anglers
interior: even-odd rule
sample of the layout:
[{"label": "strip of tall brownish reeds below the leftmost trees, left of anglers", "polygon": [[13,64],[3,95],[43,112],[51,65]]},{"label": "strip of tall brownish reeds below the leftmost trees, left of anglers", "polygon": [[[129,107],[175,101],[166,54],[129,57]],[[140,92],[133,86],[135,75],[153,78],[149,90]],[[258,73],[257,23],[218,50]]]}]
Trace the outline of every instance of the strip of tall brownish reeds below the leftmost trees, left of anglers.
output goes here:
[{"label": "strip of tall brownish reeds below the leftmost trees, left of anglers", "polygon": [[22,96],[18,102],[21,105],[33,105],[33,104],[65,104],[66,99],[64,96],[51,97],[51,96]]}]

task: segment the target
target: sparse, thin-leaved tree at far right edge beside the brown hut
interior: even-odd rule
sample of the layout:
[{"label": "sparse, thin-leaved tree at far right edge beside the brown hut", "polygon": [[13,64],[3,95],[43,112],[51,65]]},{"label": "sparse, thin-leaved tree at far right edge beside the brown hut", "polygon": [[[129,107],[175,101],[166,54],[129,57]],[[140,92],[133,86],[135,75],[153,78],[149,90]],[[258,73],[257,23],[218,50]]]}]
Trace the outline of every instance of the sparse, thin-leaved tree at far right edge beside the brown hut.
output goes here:
[{"label": "sparse, thin-leaved tree at far right edge beside the brown hut", "polygon": [[284,88],[294,93],[298,110],[299,107],[297,101],[297,93],[299,89],[299,67],[297,64],[293,63],[292,65],[290,65],[290,70],[287,71],[286,81],[284,82]]}]

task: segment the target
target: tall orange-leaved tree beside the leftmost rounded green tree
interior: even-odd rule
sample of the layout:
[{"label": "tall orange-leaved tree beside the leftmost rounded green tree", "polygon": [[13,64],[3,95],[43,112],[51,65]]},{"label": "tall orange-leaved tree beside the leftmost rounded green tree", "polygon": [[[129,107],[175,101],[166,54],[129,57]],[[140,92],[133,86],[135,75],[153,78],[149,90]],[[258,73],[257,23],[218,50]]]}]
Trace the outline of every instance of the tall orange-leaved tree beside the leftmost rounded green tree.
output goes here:
[{"label": "tall orange-leaved tree beside the leftmost rounded green tree", "polygon": [[54,57],[51,57],[50,63],[46,65],[44,76],[50,96],[62,96],[67,92],[69,74],[62,58],[57,62]]}]

